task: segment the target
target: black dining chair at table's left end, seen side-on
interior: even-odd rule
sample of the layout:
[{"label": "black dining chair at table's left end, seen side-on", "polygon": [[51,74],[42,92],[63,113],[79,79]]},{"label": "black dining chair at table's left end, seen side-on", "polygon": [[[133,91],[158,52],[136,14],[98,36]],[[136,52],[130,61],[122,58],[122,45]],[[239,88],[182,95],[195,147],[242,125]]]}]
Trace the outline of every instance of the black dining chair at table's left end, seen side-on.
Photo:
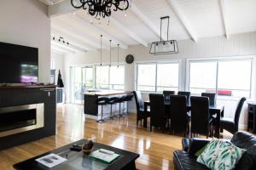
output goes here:
[{"label": "black dining chair at table's left end, seen side-on", "polygon": [[150,117],[150,109],[144,111],[144,101],[140,91],[133,92],[135,96],[136,108],[137,108],[137,124],[142,122],[144,118]]}]

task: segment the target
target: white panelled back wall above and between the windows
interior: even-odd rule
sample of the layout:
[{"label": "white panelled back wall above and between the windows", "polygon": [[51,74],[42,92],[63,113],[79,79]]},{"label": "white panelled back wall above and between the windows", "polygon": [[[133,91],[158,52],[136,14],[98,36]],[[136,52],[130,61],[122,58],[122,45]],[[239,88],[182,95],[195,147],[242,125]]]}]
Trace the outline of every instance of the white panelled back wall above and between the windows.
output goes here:
[{"label": "white panelled back wall above and between the windows", "polygon": [[[180,90],[185,90],[186,87],[186,61],[187,59],[195,58],[216,58],[224,57],[229,58],[232,56],[244,56],[244,55],[255,55],[256,54],[256,32],[237,34],[230,36],[230,39],[225,37],[207,37],[200,38],[198,42],[193,42],[191,40],[178,41],[179,54],[165,54],[165,55],[152,55],[148,54],[148,48],[144,48],[141,45],[131,46],[127,50],[120,50],[120,59],[125,61],[125,56],[127,54],[133,54],[135,57],[135,62],[139,61],[152,61],[152,60],[168,60],[168,59],[180,59],[181,60],[181,80],[180,80]],[[116,48],[113,49],[113,61],[117,61]],[[108,63],[109,61],[109,51],[103,51],[102,62]],[[99,52],[88,52],[86,54],[67,54],[65,56],[65,71],[66,80],[69,80],[69,66],[71,65],[90,65],[100,63]],[[254,62],[255,63],[255,62]],[[254,65],[255,67],[255,65]],[[255,75],[255,74],[254,74]],[[135,80],[135,63],[131,65],[125,65],[125,89],[133,90]],[[67,89],[68,89],[68,81]],[[253,86],[254,87],[254,86]],[[255,91],[255,90],[253,90]],[[67,90],[68,94],[68,90]],[[255,93],[253,93],[253,99],[255,99]],[[68,95],[67,95],[68,96]],[[232,101],[233,105],[230,109],[225,108],[225,115],[233,116],[234,108],[236,109],[236,101]],[[245,105],[245,111],[241,115],[241,127],[245,127],[247,123],[247,111]],[[131,106],[135,109],[135,106]],[[230,111],[229,111],[230,110]]]}]

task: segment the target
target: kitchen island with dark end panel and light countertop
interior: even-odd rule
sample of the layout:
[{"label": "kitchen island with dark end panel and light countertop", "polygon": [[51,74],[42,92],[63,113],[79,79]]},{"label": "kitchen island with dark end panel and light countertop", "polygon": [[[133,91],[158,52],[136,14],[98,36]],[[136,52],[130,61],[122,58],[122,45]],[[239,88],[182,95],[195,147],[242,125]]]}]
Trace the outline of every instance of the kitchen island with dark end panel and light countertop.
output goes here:
[{"label": "kitchen island with dark end panel and light countertop", "polygon": [[[102,90],[102,91],[90,91],[83,93],[84,94],[84,114],[88,116],[94,116],[98,119],[98,116],[101,115],[101,105],[96,104],[96,100],[102,97],[122,97],[129,94],[132,94],[132,91],[124,90]],[[114,105],[113,114],[119,112],[119,106],[121,111],[126,111],[126,105]],[[103,106],[104,118],[110,115],[110,105]]]}]

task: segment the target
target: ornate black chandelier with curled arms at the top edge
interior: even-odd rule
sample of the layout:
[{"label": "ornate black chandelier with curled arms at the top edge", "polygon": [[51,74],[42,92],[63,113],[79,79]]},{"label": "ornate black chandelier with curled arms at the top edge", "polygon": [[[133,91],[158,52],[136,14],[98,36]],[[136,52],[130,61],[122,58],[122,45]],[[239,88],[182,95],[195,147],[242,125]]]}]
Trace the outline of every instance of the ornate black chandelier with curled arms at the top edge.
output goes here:
[{"label": "ornate black chandelier with curled arms at the top edge", "polygon": [[111,15],[111,10],[126,10],[130,3],[128,0],[71,0],[74,8],[88,9],[92,16],[105,18]]}]

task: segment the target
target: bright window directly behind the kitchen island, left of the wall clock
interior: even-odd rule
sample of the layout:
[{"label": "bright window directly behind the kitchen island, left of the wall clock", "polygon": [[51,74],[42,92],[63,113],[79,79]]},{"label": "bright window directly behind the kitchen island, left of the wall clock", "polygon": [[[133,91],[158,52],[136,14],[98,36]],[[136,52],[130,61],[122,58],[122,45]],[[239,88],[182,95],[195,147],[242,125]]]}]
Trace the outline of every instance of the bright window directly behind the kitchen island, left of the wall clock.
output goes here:
[{"label": "bright window directly behind the kitchen island, left of the wall clock", "polygon": [[103,65],[96,66],[96,88],[100,89],[124,89],[125,66]]}]

